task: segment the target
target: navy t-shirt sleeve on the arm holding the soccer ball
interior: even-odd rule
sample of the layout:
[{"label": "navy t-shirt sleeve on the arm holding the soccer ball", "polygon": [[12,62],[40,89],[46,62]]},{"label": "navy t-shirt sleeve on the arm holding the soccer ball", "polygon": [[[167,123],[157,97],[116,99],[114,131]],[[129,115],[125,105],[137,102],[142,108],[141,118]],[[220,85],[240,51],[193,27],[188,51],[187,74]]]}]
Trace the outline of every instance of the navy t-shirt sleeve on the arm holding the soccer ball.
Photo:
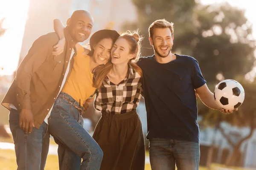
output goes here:
[{"label": "navy t-shirt sleeve on the arm holding the soccer ball", "polygon": [[200,88],[202,85],[206,83],[206,80],[204,79],[201,70],[198,65],[198,61],[196,59],[193,59],[193,65],[192,65],[192,84],[193,87]]}]

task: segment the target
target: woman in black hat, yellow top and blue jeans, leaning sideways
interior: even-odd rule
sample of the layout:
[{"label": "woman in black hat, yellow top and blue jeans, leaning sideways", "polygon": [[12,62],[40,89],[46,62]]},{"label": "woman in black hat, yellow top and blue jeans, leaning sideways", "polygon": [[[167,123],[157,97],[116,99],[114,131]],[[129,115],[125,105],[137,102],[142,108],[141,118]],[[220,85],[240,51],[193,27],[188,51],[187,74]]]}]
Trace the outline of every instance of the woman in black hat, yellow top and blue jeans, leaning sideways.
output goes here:
[{"label": "woman in black hat, yellow top and blue jeans, leaning sideways", "polygon": [[73,55],[74,63],[70,63],[73,69],[63,88],[60,86],[61,92],[48,119],[49,133],[58,144],[61,170],[98,170],[100,167],[103,153],[83,128],[82,103],[95,92],[93,70],[109,61],[117,37],[119,34],[113,30],[97,31],[90,38],[90,53],[84,54],[84,48],[78,45],[79,49]]}]

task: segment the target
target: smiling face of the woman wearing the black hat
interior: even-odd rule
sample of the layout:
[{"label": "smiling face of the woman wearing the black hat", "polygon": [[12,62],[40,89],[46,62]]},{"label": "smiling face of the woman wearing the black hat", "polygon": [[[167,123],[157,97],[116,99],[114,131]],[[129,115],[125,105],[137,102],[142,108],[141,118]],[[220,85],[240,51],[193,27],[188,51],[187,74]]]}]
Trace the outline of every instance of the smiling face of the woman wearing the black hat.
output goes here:
[{"label": "smiling face of the woman wearing the black hat", "polygon": [[112,44],[113,40],[111,38],[104,38],[93,45],[94,53],[92,57],[97,64],[102,65],[109,61]]}]

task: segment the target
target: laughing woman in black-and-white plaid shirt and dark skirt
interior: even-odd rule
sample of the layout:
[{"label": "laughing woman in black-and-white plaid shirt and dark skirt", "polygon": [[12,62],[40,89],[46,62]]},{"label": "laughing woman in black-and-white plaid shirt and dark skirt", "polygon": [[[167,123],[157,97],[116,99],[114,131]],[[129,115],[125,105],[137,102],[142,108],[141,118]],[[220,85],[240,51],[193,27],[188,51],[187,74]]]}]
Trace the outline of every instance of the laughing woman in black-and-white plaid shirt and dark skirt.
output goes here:
[{"label": "laughing woman in black-and-white plaid shirt and dark skirt", "polygon": [[102,111],[93,138],[103,150],[101,170],[144,170],[145,142],[136,112],[142,91],[141,37],[122,34],[111,50],[111,62],[94,73],[95,108]]}]

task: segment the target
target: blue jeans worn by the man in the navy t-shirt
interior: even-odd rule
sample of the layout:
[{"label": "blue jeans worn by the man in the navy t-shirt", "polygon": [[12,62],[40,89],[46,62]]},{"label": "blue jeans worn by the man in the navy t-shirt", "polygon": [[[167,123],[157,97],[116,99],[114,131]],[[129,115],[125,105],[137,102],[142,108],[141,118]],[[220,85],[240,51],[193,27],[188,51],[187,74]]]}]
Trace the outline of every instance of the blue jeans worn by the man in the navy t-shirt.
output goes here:
[{"label": "blue jeans worn by the man in the navy t-shirt", "polygon": [[175,139],[149,139],[149,159],[152,170],[198,170],[199,143]]}]

